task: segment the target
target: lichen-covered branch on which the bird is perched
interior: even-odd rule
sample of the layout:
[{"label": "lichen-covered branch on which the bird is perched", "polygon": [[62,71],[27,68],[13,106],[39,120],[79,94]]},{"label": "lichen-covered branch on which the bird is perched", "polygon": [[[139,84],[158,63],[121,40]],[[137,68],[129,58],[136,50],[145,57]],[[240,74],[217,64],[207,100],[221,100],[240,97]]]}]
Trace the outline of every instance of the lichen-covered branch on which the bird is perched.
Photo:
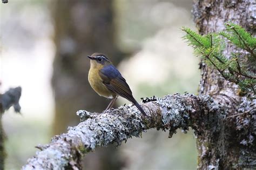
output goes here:
[{"label": "lichen-covered branch on which the bird is perched", "polygon": [[143,104],[147,117],[134,106],[121,106],[104,114],[78,111],[82,121],[69,127],[67,133],[56,135],[42,151],[30,158],[23,169],[80,168],[83,154],[112,143],[120,145],[128,138],[140,137],[149,128],[169,130],[170,137],[178,128],[197,127],[201,114],[219,109],[209,96],[174,94]]}]

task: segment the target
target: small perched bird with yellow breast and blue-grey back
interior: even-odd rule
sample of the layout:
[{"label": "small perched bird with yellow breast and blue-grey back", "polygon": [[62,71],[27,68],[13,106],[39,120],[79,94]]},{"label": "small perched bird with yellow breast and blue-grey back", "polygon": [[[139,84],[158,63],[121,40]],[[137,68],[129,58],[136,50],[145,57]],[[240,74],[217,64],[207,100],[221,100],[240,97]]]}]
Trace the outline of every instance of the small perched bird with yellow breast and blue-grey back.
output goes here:
[{"label": "small perched bird with yellow breast and blue-grey back", "polygon": [[93,53],[93,55],[87,57],[91,59],[88,80],[92,89],[99,96],[112,99],[105,112],[112,107],[118,96],[121,96],[131,101],[146,116],[143,108],[133,98],[132,91],[126,80],[110,60],[102,53]]}]

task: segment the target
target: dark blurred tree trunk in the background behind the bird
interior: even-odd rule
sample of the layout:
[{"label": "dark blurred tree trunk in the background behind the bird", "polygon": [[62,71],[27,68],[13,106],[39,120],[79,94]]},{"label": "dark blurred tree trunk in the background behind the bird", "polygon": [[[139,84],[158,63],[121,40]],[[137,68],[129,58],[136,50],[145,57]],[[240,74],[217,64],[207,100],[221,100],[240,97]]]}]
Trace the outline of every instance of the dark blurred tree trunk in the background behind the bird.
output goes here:
[{"label": "dark blurred tree trunk in the background behind the bird", "polygon": [[[53,3],[53,2],[51,2]],[[112,1],[57,1],[54,5],[56,56],[53,63],[52,87],[55,94],[53,133],[66,131],[77,125],[73,114],[79,108],[102,112],[109,100],[98,96],[87,80],[90,61],[87,55],[103,52],[114,64],[122,59],[114,43]],[[117,150],[101,149],[86,159],[87,169],[119,169],[119,161],[112,164]]]}]

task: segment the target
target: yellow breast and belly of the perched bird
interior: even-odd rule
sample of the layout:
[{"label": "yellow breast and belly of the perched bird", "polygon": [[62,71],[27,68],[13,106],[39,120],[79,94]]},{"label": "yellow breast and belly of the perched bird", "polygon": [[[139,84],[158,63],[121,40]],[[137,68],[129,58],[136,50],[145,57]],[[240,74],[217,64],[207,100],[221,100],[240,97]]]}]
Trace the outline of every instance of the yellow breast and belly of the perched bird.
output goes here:
[{"label": "yellow breast and belly of the perched bird", "polygon": [[99,70],[101,68],[91,67],[89,70],[88,80],[93,90],[99,94],[99,96],[103,96],[106,98],[113,98],[113,93],[107,89],[107,87],[103,84],[102,78],[99,76]]}]

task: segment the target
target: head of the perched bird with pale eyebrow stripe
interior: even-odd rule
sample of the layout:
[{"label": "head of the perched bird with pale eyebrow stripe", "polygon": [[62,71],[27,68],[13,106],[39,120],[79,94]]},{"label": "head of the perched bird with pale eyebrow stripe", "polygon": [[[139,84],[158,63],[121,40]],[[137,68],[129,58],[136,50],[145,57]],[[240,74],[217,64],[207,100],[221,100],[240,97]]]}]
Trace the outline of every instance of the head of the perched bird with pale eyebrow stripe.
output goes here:
[{"label": "head of the perched bird with pale eyebrow stripe", "polygon": [[112,64],[110,60],[102,53],[96,52],[87,57],[91,59],[91,67],[101,67],[104,65]]}]

